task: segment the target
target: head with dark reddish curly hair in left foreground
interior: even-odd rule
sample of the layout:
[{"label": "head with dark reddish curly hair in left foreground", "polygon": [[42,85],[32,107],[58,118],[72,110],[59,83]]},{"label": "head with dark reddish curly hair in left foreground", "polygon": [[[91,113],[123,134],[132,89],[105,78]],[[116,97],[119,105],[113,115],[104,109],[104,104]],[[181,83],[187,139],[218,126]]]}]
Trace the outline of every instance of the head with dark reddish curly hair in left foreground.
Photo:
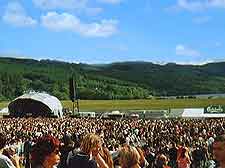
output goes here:
[{"label": "head with dark reddish curly hair in left foreground", "polygon": [[32,164],[50,166],[56,165],[60,161],[59,152],[60,142],[58,139],[48,135],[40,137],[37,143],[32,147],[31,160]]}]

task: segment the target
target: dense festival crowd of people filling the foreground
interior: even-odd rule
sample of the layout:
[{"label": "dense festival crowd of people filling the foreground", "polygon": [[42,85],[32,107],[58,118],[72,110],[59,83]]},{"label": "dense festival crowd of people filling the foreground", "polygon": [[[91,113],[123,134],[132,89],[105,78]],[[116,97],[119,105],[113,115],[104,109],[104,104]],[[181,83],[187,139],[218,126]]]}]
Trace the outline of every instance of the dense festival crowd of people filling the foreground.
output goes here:
[{"label": "dense festival crowd of people filling the foreground", "polygon": [[0,119],[0,168],[225,168],[225,119]]}]

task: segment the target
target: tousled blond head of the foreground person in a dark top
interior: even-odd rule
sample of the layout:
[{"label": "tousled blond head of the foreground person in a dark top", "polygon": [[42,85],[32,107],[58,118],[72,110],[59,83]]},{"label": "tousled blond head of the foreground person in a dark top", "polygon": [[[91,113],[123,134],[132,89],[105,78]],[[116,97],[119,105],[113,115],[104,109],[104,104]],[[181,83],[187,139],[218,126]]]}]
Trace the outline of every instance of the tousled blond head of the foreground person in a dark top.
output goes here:
[{"label": "tousled blond head of the foreground person in a dark top", "polygon": [[95,155],[96,153],[99,152],[100,148],[101,148],[101,138],[98,135],[92,133],[84,136],[80,145],[81,151],[86,154]]}]

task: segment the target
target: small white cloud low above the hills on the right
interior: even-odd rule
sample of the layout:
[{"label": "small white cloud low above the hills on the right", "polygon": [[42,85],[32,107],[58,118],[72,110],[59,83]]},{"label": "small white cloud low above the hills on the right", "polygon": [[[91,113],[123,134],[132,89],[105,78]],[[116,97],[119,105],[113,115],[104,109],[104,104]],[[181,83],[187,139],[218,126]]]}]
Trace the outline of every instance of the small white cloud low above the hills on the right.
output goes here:
[{"label": "small white cloud low above the hills on the right", "polygon": [[182,44],[176,46],[176,55],[180,56],[200,56],[200,52]]}]

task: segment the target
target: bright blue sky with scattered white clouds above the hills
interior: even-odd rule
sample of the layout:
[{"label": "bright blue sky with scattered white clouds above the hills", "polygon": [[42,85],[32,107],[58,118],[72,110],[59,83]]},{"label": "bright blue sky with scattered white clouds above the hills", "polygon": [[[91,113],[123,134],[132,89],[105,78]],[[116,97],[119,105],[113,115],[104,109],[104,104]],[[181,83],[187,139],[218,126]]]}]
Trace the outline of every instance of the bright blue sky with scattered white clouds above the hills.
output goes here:
[{"label": "bright blue sky with scattered white clouds above the hills", "polygon": [[0,55],[89,64],[225,61],[225,0],[1,0]]}]

